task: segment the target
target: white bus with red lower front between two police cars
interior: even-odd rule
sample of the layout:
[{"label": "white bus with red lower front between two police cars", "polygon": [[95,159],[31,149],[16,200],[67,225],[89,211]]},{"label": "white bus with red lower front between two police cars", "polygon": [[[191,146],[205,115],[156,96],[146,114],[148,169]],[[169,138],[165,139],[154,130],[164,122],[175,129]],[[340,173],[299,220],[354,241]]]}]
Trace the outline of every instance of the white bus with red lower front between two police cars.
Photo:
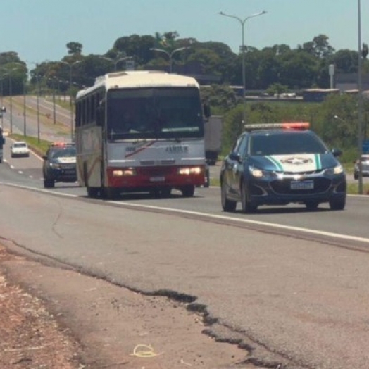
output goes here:
[{"label": "white bus with red lower front between two police cars", "polygon": [[[204,109],[208,117],[208,108]],[[76,96],[77,177],[90,197],[194,196],[204,184],[204,111],[192,77],[125,71]]]}]

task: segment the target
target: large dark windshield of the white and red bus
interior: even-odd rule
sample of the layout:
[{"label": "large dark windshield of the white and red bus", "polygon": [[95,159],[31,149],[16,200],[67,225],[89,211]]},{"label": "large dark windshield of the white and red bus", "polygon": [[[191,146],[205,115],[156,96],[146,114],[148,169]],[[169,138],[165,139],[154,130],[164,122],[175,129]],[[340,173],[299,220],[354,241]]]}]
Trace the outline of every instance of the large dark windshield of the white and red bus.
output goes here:
[{"label": "large dark windshield of the white and red bus", "polygon": [[204,135],[199,89],[194,87],[110,90],[106,108],[111,140]]}]

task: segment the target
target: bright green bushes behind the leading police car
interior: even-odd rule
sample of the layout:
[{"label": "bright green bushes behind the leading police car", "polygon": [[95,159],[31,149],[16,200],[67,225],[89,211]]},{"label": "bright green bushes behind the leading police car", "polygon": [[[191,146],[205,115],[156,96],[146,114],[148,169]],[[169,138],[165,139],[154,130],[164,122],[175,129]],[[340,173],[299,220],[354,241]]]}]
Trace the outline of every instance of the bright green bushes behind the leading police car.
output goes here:
[{"label": "bright green bushes behind the leading police car", "polygon": [[[223,114],[223,154],[227,154],[242,132],[242,105]],[[337,117],[337,118],[334,118]],[[369,101],[364,104],[363,138],[369,124]],[[343,151],[341,160],[352,163],[358,156],[358,104],[357,96],[332,95],[323,103],[305,102],[247,102],[246,124],[305,121],[330,149]],[[369,133],[369,127],[368,127]]]}]

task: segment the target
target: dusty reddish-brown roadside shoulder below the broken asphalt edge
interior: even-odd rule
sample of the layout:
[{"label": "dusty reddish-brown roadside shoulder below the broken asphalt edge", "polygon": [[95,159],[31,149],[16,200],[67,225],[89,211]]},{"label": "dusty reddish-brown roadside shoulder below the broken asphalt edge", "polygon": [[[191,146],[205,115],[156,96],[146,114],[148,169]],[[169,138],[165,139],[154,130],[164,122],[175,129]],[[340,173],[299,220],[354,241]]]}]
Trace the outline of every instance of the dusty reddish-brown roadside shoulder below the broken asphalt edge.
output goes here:
[{"label": "dusty reddish-brown roadside shoulder below the broken asphalt edge", "polygon": [[203,331],[177,301],[0,246],[0,368],[255,368],[247,351]]}]

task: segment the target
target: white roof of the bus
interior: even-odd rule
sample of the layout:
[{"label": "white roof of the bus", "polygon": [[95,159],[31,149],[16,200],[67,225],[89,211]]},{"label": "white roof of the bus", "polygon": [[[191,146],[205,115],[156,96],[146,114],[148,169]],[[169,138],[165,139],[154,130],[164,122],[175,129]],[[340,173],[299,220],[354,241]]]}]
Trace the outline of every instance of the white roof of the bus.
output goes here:
[{"label": "white roof of the bus", "polygon": [[104,87],[108,89],[141,88],[141,87],[197,87],[199,83],[184,75],[175,75],[160,70],[130,70],[125,72],[108,73],[96,77],[92,87],[77,92],[77,99]]}]

